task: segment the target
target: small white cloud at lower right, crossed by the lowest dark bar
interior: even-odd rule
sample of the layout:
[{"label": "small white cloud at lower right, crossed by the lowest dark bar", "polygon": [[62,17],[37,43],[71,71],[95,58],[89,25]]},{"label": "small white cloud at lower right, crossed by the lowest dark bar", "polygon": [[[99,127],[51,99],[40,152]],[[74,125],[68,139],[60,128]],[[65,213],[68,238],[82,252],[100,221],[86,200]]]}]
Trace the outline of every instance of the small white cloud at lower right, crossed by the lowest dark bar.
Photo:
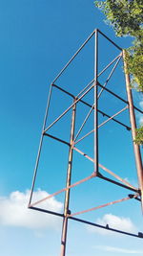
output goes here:
[{"label": "small white cloud at lower right, crossed by the lowest dark bar", "polygon": [[[106,214],[103,216],[103,218],[98,218],[95,223],[98,223],[100,225],[106,226],[109,224],[109,227],[126,231],[126,232],[136,232],[136,228],[133,225],[133,222],[130,220],[130,218],[124,218],[124,217],[118,217],[112,214]],[[98,228],[98,227],[88,227],[88,230],[95,233],[100,233],[103,235],[107,234],[113,234],[114,232],[108,231],[106,229]]]}]

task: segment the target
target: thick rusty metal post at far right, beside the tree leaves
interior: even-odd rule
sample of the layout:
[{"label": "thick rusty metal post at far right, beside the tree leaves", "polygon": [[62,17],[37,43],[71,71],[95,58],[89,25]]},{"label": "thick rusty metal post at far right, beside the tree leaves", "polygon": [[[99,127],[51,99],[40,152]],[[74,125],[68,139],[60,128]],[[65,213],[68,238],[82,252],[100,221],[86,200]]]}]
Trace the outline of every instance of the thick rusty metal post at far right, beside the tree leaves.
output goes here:
[{"label": "thick rusty metal post at far right, beside the tree leaves", "polygon": [[136,122],[135,122],[135,114],[134,114],[134,107],[133,107],[133,95],[130,83],[130,75],[127,74],[128,63],[126,60],[126,52],[123,50],[123,60],[124,60],[124,70],[125,70],[125,80],[126,80],[126,90],[127,90],[127,97],[129,102],[129,112],[130,112],[130,121],[132,127],[132,135],[133,135],[133,150],[136,162],[136,169],[137,169],[137,176],[138,176],[138,184],[139,189],[141,191],[141,203],[142,203],[142,211],[143,211],[143,166],[142,166],[142,159],[140,148],[137,144],[135,144],[134,139],[136,136]]}]

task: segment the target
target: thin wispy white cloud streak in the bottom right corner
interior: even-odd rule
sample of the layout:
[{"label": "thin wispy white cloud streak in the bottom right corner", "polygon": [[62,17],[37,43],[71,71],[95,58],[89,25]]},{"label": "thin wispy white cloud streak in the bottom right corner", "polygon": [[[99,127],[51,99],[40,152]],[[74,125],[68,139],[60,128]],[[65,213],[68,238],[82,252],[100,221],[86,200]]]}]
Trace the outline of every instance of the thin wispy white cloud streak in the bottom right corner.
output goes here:
[{"label": "thin wispy white cloud streak in the bottom right corner", "polygon": [[134,249],[127,249],[121,247],[112,247],[112,246],[94,246],[95,249],[103,250],[103,251],[110,251],[112,253],[126,253],[126,254],[142,254],[143,250],[134,250]]}]

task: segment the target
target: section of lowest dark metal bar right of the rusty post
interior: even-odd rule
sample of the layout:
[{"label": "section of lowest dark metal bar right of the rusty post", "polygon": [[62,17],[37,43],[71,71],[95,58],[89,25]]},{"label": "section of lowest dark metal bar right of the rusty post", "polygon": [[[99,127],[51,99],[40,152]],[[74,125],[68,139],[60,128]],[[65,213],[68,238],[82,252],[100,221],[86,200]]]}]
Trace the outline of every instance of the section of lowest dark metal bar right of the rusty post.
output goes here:
[{"label": "section of lowest dark metal bar right of the rusty post", "polygon": [[120,234],[132,236],[132,237],[136,237],[136,238],[143,238],[143,235],[141,235],[142,234],[141,232],[138,232],[138,235],[137,235],[137,234],[129,233],[129,232],[126,232],[126,231],[114,229],[114,228],[110,227],[109,224],[104,226],[104,225],[100,225],[100,224],[97,224],[97,223],[93,223],[91,221],[85,221],[85,220],[82,220],[82,219],[78,219],[78,218],[75,218],[75,217],[69,217],[69,219],[72,220],[72,221],[79,221],[79,222],[82,222],[82,223],[85,223],[85,224],[89,224],[89,225],[92,225],[92,226],[96,226],[96,227],[103,228],[103,229],[113,231],[113,232],[117,232],[117,233],[120,233]]}]

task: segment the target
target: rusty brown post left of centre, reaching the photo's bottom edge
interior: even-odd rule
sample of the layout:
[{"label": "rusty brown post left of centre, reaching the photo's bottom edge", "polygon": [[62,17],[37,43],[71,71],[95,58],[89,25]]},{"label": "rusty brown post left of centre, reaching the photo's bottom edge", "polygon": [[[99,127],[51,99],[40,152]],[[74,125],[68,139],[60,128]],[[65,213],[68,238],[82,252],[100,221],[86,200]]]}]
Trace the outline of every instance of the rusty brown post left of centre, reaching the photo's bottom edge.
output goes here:
[{"label": "rusty brown post left of centre, reaching the photo's bottom edge", "polygon": [[[75,99],[74,99],[75,102]],[[66,187],[71,185],[72,178],[72,144],[74,140],[74,128],[75,128],[75,112],[76,112],[76,104],[72,107],[72,126],[71,126],[71,146],[69,150],[69,162],[68,162],[68,170],[67,170],[67,184]],[[68,230],[68,217],[67,215],[70,213],[69,210],[70,203],[70,189],[66,191],[65,195],[65,204],[64,204],[64,219],[63,219],[63,228],[62,228],[62,237],[61,237],[61,256],[66,255],[66,242],[67,242],[67,230]]]}]

